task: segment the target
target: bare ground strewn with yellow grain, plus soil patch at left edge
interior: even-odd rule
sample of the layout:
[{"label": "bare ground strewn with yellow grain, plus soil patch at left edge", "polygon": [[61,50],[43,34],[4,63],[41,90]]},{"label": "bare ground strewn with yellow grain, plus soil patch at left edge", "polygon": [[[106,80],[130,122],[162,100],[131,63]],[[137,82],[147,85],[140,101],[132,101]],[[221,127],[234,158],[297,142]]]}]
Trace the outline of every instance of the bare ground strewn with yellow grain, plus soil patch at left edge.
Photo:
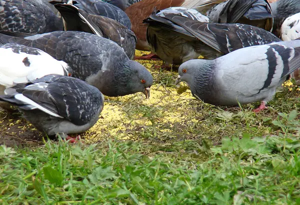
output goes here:
[{"label": "bare ground strewn with yellow grain, plus soil patch at left edge", "polygon": [[[136,51],[137,55],[143,53]],[[251,128],[251,134],[267,135],[271,131],[263,119],[272,119],[278,111],[288,112],[296,108],[292,101],[296,101],[300,94],[297,89],[284,89],[278,92],[284,98],[271,102],[268,110],[254,114],[252,109],[259,104],[254,103],[242,106],[245,111],[250,111],[242,113],[239,107],[215,107],[196,100],[182,82],[180,88],[175,86],[176,68],[171,71],[153,67],[154,64],[161,65],[161,61],[139,62],[150,70],[154,78],[150,98],[146,100],[142,93],[105,97],[98,122],[80,135],[83,143],[96,143],[103,139],[145,140],[151,143],[206,139],[217,145],[222,137],[231,135],[232,131],[242,133],[246,126]],[[45,137],[17,112],[2,111],[0,122],[0,144],[40,145],[42,137]]]}]

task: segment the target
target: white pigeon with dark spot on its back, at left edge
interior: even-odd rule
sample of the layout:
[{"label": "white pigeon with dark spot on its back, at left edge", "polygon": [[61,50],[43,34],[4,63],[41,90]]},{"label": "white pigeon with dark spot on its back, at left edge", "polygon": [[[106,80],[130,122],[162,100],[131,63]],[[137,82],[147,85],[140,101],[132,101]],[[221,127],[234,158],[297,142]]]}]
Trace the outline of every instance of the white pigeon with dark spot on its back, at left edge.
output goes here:
[{"label": "white pigeon with dark spot on its back, at left edge", "polygon": [[14,43],[0,46],[0,94],[17,83],[26,83],[48,74],[71,75],[71,68],[37,48]]}]

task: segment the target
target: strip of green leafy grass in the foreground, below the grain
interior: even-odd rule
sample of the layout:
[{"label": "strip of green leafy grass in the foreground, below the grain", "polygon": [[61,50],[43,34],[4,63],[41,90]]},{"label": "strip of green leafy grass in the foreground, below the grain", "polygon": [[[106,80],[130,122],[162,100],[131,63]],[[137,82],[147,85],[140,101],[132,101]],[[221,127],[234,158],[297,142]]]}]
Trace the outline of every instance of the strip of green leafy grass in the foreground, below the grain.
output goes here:
[{"label": "strip of green leafy grass in the foreground, below the grain", "polygon": [[271,122],[278,135],[224,137],[220,146],[107,140],[0,147],[1,204],[300,203],[297,112]]}]

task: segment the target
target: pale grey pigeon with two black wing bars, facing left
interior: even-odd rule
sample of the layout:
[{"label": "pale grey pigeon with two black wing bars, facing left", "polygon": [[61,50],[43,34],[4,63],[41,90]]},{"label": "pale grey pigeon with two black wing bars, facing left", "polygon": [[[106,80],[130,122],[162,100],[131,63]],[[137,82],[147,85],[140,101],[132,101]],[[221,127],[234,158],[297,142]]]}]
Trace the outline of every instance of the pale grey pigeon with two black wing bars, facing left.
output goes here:
[{"label": "pale grey pigeon with two black wing bars, facing left", "polygon": [[215,60],[182,63],[176,84],[184,81],[205,103],[237,106],[262,101],[263,110],[276,88],[300,67],[300,40],[281,41],[235,50]]}]

